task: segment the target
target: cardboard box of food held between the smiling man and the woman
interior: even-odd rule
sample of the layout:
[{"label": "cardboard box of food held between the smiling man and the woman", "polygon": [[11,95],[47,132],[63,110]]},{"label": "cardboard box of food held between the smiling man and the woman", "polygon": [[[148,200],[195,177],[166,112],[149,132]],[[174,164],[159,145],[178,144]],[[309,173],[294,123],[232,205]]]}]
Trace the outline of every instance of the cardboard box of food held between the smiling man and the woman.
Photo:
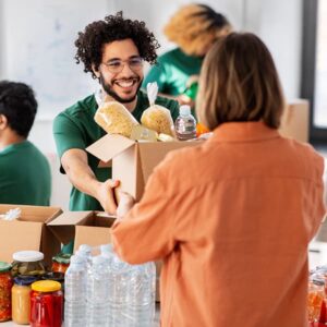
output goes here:
[{"label": "cardboard box of food held between the smiling man and the woman", "polygon": [[[88,153],[100,159],[100,166],[112,160],[112,179],[120,180],[120,190],[140,201],[154,168],[171,152],[201,142],[135,142],[121,135],[105,135],[89,147]],[[106,164],[106,165],[104,165]]]}]

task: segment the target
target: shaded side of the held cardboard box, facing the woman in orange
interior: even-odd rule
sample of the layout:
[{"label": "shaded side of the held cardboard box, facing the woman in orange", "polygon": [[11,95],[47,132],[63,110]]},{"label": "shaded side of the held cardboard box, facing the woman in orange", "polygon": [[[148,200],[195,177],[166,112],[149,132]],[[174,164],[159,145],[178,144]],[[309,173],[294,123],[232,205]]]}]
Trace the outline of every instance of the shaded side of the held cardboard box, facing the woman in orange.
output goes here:
[{"label": "shaded side of the held cardboard box, facing the woman in orange", "polygon": [[201,141],[138,143],[140,160],[144,183],[146,183],[149,175],[153,173],[154,168],[160,161],[162,161],[162,159],[169,152],[186,146],[195,146],[201,144]]}]

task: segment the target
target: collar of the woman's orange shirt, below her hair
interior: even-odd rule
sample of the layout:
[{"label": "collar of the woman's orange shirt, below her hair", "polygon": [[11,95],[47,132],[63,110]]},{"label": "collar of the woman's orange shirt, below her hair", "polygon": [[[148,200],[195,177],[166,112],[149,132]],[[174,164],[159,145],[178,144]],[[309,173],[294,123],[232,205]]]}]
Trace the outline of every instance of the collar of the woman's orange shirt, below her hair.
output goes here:
[{"label": "collar of the woman's orange shirt, below her hair", "polygon": [[219,125],[211,137],[218,142],[256,142],[280,137],[276,129],[263,122],[228,122]]}]

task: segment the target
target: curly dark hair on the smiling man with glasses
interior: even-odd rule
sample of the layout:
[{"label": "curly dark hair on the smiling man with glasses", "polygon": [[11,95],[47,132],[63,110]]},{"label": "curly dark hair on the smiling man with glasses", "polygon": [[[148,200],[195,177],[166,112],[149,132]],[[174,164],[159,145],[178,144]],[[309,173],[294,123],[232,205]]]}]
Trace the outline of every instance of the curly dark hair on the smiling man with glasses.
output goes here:
[{"label": "curly dark hair on the smiling man with glasses", "polygon": [[160,47],[154,34],[150,33],[143,21],[131,21],[123,19],[122,11],[116,15],[108,15],[104,21],[97,21],[88,24],[84,32],[78,33],[75,40],[77,48],[75,59],[76,63],[84,63],[84,72],[90,72],[94,64],[98,70],[102,59],[102,48],[105,44],[116,40],[131,38],[138,49],[140,56],[150,64],[157,62],[156,49]]}]

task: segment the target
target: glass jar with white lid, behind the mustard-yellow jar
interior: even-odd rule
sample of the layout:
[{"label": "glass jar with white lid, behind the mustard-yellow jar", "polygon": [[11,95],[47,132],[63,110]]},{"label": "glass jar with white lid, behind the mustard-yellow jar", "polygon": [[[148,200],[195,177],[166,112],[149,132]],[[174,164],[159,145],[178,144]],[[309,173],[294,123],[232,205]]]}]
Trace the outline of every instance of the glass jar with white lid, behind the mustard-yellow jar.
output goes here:
[{"label": "glass jar with white lid, behind the mustard-yellow jar", "polygon": [[44,265],[44,254],[38,251],[20,251],[13,254],[13,264],[11,274],[16,276],[37,276],[46,272]]}]

